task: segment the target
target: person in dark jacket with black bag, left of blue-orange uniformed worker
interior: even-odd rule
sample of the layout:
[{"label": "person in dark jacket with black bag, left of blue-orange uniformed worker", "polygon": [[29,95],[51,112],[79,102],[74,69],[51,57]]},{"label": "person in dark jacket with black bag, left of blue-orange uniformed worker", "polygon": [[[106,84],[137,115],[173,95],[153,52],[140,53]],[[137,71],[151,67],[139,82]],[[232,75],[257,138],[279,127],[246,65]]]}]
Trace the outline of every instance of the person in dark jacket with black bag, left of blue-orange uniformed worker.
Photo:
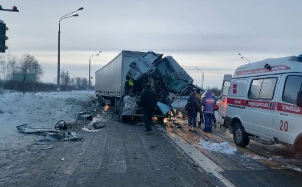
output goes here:
[{"label": "person in dark jacket with black bag, left of blue-orange uniformed worker", "polygon": [[190,106],[192,108],[192,110],[188,112],[189,131],[192,130],[192,126],[193,126],[193,130],[194,131],[196,130],[196,117],[197,117],[197,113],[200,112],[200,104],[196,95],[197,92],[193,91],[190,98],[188,99],[188,103],[190,103]]}]

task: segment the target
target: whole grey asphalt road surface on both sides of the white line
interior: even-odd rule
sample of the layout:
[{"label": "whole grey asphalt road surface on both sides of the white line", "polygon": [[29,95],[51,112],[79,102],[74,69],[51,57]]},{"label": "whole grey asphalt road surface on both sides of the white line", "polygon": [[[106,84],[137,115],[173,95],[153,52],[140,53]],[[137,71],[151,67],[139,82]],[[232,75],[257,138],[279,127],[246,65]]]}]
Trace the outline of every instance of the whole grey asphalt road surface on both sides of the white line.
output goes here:
[{"label": "whole grey asphalt road surface on both sides of the white line", "polygon": [[223,154],[198,146],[200,138],[227,141],[218,131],[153,127],[147,136],[143,126],[119,123],[112,110],[100,120],[106,127],[98,132],[84,132],[83,125],[68,129],[81,141],[35,141],[3,151],[0,186],[302,186],[301,172],[250,149]]}]

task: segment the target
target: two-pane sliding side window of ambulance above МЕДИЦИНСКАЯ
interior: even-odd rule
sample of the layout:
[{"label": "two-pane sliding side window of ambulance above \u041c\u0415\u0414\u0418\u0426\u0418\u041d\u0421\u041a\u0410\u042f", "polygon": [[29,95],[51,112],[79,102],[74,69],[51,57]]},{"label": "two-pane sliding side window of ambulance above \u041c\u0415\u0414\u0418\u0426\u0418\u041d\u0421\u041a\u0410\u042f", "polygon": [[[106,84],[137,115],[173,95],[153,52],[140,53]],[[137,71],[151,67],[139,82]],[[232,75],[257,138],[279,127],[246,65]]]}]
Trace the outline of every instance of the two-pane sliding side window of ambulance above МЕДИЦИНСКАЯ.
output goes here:
[{"label": "two-pane sliding side window of ambulance above \u041c\u0415\u0414\u0418\u0426\u0418\u041d\u0421\u041a\u0410\u042f", "polygon": [[272,100],[277,78],[252,80],[248,98]]}]

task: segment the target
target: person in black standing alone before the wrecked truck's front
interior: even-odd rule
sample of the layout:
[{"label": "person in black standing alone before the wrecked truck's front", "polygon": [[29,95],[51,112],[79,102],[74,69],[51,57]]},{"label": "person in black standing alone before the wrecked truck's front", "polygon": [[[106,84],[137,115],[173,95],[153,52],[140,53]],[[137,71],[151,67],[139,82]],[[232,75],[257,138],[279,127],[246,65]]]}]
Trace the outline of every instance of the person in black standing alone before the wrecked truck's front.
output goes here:
[{"label": "person in black standing alone before the wrecked truck's front", "polygon": [[150,134],[152,131],[151,120],[156,107],[158,94],[151,89],[150,84],[146,84],[146,89],[142,91],[140,102],[138,107],[142,107],[142,117],[145,122],[146,134]]}]

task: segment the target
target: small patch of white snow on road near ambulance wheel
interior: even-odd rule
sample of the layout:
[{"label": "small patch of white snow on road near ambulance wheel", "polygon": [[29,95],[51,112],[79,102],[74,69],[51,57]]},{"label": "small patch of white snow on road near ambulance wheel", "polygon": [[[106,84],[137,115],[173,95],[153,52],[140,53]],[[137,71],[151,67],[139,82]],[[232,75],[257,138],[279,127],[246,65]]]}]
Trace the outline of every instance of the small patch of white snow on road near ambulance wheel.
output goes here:
[{"label": "small patch of white snow on road near ambulance wheel", "polygon": [[237,151],[237,148],[231,146],[228,142],[214,143],[201,139],[199,146],[209,151],[216,151],[224,154],[234,154]]}]

